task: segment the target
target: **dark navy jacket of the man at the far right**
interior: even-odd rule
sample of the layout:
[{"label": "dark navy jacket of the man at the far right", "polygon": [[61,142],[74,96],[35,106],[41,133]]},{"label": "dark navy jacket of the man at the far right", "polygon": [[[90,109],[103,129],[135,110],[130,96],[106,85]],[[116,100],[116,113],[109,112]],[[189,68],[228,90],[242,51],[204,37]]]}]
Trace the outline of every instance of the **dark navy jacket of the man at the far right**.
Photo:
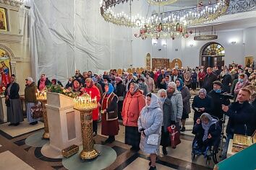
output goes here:
[{"label": "dark navy jacket of the man at the far right", "polygon": [[252,135],[256,129],[255,113],[255,108],[249,102],[243,104],[233,102],[226,112],[226,115],[229,116],[226,133],[229,135]]}]

